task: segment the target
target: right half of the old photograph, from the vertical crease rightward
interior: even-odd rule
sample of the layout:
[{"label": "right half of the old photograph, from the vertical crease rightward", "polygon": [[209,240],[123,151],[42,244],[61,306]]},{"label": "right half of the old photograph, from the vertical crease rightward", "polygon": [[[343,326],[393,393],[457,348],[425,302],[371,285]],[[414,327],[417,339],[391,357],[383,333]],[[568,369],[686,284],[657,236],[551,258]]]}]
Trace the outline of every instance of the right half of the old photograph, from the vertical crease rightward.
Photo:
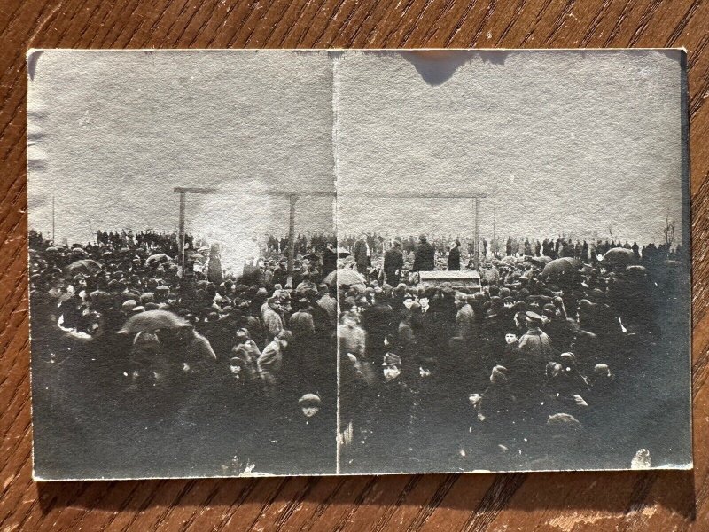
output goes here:
[{"label": "right half of the old photograph, from the vertical crease rightward", "polygon": [[690,467],[682,69],[345,53],[341,472]]}]

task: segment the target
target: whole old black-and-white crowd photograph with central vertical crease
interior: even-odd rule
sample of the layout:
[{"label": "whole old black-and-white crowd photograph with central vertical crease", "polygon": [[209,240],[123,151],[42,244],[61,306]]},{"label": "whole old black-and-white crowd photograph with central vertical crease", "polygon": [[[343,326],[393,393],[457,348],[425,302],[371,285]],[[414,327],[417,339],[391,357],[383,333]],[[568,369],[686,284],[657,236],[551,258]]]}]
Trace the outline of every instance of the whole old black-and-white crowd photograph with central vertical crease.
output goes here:
[{"label": "whole old black-and-white crowd photograph with central vertical crease", "polygon": [[27,53],[34,478],[688,469],[686,53]]}]

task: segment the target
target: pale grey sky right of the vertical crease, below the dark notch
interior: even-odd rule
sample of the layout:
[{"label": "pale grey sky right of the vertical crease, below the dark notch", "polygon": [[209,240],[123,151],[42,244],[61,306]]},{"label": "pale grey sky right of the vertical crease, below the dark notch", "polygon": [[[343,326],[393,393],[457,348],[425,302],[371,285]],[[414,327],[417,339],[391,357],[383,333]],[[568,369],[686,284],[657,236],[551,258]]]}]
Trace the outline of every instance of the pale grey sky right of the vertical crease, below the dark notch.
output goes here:
[{"label": "pale grey sky right of the vertical crease, below the dark notch", "polygon": [[[339,231],[631,242],[679,227],[680,51],[347,51]],[[354,195],[368,192],[370,198]],[[409,200],[378,199],[405,193]],[[348,195],[351,195],[348,198]],[[364,205],[362,205],[362,203]]]}]

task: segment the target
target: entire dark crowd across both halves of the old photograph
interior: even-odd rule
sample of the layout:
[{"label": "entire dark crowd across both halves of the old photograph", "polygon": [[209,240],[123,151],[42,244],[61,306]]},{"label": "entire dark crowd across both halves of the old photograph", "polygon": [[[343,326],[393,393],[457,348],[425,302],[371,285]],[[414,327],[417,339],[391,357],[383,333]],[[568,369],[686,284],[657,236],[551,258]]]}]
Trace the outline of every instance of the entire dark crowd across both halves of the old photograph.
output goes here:
[{"label": "entire dark crowd across both halves of the old photograph", "polygon": [[336,447],[343,473],[632,456],[640,431],[618,412],[644,422],[651,356],[682,347],[667,333],[684,319],[668,304],[685,296],[682,249],[510,238],[486,246],[479,284],[422,284],[472,267],[443,240],[313,235],[289,270],[269,238],[235,275],[191,235],[180,254],[169,233],[33,232],[35,442],[176,476],[334,473]]}]

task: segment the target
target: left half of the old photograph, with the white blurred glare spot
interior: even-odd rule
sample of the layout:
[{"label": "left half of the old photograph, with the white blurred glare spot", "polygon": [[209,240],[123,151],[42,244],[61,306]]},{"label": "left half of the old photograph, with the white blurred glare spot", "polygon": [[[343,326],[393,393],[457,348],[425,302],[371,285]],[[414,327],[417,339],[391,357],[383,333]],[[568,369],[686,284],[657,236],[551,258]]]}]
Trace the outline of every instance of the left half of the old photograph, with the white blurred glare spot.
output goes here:
[{"label": "left half of the old photograph, with the white blurred glare spot", "polygon": [[29,64],[35,477],[335,473],[328,55]]}]

